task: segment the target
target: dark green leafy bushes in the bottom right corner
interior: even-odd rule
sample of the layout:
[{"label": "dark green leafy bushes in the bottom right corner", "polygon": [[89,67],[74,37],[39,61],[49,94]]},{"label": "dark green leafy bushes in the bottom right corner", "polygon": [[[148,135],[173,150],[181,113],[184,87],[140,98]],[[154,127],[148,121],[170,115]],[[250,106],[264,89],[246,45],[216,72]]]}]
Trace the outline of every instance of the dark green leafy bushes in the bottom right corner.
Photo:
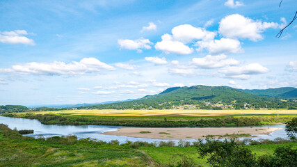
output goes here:
[{"label": "dark green leafy bushes in the bottom right corner", "polygon": [[231,141],[218,141],[207,139],[206,143],[200,141],[198,153],[201,158],[209,156],[207,162],[211,166],[295,166],[297,149],[278,147],[273,155],[263,154],[256,157],[252,151],[240,146],[232,139]]}]

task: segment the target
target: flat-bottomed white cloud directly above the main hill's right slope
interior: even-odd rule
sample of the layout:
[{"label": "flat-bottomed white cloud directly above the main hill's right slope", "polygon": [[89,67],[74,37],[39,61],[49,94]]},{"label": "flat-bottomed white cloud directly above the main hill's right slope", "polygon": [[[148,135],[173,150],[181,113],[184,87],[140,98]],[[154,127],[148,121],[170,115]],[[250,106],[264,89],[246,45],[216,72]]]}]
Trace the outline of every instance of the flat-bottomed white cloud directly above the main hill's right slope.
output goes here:
[{"label": "flat-bottomed white cloud directly above the main hill's right slope", "polygon": [[200,68],[220,68],[227,65],[239,65],[239,61],[233,58],[227,58],[225,54],[220,54],[218,56],[207,55],[203,58],[193,58],[193,65]]}]

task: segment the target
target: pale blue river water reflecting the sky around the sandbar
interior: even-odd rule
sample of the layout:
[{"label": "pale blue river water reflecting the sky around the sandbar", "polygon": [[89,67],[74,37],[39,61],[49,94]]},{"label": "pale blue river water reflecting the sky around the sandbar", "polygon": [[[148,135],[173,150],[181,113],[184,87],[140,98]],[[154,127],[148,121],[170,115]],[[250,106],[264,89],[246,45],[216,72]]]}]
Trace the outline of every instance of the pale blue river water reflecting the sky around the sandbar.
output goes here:
[{"label": "pale blue river water reflecting the sky around the sandbar", "polygon": [[[149,143],[159,141],[179,141],[179,140],[161,140],[152,138],[134,138],[128,136],[113,136],[102,134],[104,132],[117,131],[119,126],[105,126],[105,125],[43,125],[39,120],[31,120],[25,118],[10,118],[0,116],[0,123],[8,125],[10,129],[33,129],[34,134],[27,134],[25,136],[38,137],[40,135],[44,137],[49,136],[67,136],[75,135],[77,138],[94,138],[101,141],[110,142],[111,140],[118,140],[120,143],[126,143],[126,141],[147,141]],[[256,127],[256,126],[253,126]],[[258,134],[257,137],[252,137],[254,140],[259,138],[265,138],[274,140],[275,138],[287,138],[287,134],[284,131],[284,125],[264,125],[257,127],[280,127],[283,129],[271,132],[270,134]],[[181,127],[182,128],[182,127]],[[195,127],[194,127],[195,128]],[[250,137],[251,138],[251,137]],[[243,140],[243,138],[239,138]],[[183,141],[196,141],[195,139],[187,139]]]}]

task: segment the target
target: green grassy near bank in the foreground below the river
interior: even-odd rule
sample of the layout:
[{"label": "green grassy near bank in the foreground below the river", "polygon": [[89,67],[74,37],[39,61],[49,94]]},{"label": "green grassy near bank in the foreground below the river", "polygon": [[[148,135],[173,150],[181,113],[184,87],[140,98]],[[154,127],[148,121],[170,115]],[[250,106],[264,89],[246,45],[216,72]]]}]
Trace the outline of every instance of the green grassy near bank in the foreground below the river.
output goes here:
[{"label": "green grassy near bank in the foreground below the river", "polygon": [[[260,156],[273,154],[279,146],[296,149],[297,143],[242,147]],[[75,136],[35,139],[0,125],[0,166],[164,166],[182,155],[193,158],[196,164],[209,166],[207,159],[198,158],[194,146],[135,148],[116,142],[78,141]]]}]

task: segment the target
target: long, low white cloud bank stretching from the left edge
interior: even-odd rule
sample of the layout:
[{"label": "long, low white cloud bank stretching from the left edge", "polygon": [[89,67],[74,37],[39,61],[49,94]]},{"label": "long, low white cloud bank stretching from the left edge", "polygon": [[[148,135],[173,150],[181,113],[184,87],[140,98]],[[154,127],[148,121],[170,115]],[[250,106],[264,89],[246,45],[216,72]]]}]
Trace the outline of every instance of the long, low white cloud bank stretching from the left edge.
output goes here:
[{"label": "long, low white cloud bank stretching from the left edge", "polygon": [[78,75],[100,72],[100,70],[115,70],[113,66],[97,60],[97,58],[83,58],[81,61],[64,63],[24,63],[13,65],[11,68],[0,68],[0,72],[15,72],[19,74],[40,74],[40,75]]}]

